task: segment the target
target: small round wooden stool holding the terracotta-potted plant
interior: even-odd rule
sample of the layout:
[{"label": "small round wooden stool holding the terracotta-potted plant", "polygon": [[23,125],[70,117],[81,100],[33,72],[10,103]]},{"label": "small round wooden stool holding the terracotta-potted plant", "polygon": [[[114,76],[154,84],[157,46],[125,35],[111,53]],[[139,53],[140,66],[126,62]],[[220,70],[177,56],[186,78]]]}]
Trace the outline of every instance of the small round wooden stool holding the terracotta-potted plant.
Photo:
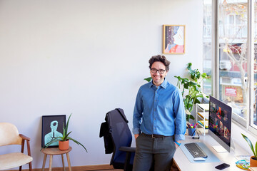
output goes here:
[{"label": "small round wooden stool holding the terracotta-potted plant", "polygon": [[63,163],[63,167],[64,167],[64,170],[65,170],[65,166],[64,166],[64,154],[66,153],[66,156],[67,156],[67,161],[68,161],[68,165],[69,165],[69,171],[71,171],[71,162],[69,160],[69,152],[71,151],[71,147],[69,147],[68,150],[64,150],[64,151],[61,151],[59,150],[58,147],[54,147],[54,148],[44,148],[43,150],[41,150],[41,152],[43,152],[45,155],[44,155],[44,162],[43,162],[43,167],[42,167],[42,171],[44,171],[44,167],[46,165],[46,157],[47,155],[50,155],[50,160],[49,160],[49,171],[51,171],[51,165],[52,165],[52,162],[53,162],[53,155],[61,155],[61,160],[62,160],[62,163]]}]

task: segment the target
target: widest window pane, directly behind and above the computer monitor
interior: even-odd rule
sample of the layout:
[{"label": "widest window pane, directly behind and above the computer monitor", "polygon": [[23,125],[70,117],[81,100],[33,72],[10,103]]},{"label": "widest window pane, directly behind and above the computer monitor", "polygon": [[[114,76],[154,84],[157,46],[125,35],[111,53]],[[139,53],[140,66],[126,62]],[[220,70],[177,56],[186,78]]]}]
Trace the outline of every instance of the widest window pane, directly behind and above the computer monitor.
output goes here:
[{"label": "widest window pane, directly behind and above the computer monitor", "polygon": [[248,103],[246,43],[247,0],[219,0],[219,99],[244,119]]}]

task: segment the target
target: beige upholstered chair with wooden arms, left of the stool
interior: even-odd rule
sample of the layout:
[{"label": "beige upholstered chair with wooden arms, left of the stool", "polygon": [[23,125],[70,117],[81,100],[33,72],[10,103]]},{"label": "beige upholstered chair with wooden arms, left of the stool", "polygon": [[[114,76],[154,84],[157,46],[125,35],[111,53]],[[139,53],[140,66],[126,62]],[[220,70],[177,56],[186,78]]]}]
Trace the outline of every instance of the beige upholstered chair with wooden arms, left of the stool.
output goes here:
[{"label": "beige upholstered chair with wooden arms, left of the stool", "polygon": [[[28,155],[24,154],[24,144],[28,149]],[[31,150],[29,145],[30,138],[19,134],[18,129],[11,123],[0,123],[0,147],[4,145],[21,145],[21,152],[11,152],[0,155],[0,170],[7,170],[14,167],[19,167],[29,163],[29,171],[32,171]]]}]

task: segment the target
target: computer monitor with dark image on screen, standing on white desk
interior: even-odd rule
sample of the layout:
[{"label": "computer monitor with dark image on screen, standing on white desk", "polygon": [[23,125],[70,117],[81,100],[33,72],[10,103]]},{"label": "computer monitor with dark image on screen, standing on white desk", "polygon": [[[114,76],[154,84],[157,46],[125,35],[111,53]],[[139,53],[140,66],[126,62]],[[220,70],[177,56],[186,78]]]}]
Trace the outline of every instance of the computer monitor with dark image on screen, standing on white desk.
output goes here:
[{"label": "computer monitor with dark image on screen, standing on white desk", "polygon": [[208,134],[220,145],[213,146],[217,152],[231,150],[232,108],[210,96]]}]

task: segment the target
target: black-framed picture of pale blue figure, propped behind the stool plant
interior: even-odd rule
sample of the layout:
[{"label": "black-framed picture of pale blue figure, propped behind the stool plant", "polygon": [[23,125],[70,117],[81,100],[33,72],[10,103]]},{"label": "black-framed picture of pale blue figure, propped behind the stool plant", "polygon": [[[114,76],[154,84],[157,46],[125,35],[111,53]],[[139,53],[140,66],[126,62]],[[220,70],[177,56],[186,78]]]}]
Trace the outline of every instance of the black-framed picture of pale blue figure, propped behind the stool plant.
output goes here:
[{"label": "black-framed picture of pale blue figure, propped behind the stool plant", "polygon": [[[42,116],[42,133],[41,147],[51,141],[56,136],[62,136],[66,126],[66,115],[43,115]],[[54,142],[49,147],[59,147],[59,142]]]}]

